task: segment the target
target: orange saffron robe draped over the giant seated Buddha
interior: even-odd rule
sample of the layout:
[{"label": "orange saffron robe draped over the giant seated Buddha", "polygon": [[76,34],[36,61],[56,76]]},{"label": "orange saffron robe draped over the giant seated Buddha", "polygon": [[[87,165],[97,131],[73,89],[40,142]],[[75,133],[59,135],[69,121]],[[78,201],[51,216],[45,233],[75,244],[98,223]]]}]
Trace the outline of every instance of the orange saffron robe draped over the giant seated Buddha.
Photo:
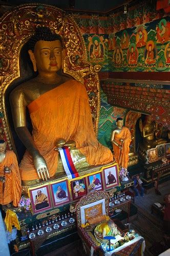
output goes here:
[{"label": "orange saffron robe draped over the giant seated Buddha", "polygon": [[[76,80],[70,80],[40,95],[28,105],[33,140],[44,156],[50,176],[57,169],[58,152],[55,141],[59,138],[74,140],[76,148],[86,156],[90,165],[107,164],[113,161],[109,148],[96,139],[86,88]],[[36,180],[32,157],[26,151],[20,163],[22,180]]]}]

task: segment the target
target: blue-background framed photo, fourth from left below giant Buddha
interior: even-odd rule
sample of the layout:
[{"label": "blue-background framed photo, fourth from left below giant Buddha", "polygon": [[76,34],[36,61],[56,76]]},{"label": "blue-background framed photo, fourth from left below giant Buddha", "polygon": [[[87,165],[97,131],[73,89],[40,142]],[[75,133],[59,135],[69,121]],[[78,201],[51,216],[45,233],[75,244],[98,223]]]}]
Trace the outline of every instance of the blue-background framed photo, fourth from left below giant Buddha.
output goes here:
[{"label": "blue-background framed photo, fourth from left below giant Buddha", "polygon": [[88,189],[89,190],[102,190],[103,181],[101,172],[94,173],[93,175],[88,176]]}]

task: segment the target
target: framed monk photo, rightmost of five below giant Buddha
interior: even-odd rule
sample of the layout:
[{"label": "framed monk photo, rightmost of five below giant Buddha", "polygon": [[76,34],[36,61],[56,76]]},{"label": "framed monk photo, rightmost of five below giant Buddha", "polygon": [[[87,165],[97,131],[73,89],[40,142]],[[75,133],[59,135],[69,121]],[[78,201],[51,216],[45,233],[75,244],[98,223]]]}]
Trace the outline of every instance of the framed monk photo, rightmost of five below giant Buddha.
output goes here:
[{"label": "framed monk photo, rightmost of five below giant Buddha", "polygon": [[119,185],[119,174],[117,165],[109,166],[103,169],[105,188],[113,188]]}]

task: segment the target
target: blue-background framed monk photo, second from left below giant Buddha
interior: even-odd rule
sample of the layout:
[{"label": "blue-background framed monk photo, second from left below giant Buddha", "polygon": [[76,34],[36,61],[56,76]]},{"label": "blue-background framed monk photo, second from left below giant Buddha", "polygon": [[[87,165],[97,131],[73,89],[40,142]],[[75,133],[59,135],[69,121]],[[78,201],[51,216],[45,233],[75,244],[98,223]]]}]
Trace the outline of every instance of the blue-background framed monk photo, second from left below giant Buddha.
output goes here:
[{"label": "blue-background framed monk photo, second from left below giant Buddha", "polygon": [[53,207],[70,202],[68,181],[61,181],[50,184]]}]

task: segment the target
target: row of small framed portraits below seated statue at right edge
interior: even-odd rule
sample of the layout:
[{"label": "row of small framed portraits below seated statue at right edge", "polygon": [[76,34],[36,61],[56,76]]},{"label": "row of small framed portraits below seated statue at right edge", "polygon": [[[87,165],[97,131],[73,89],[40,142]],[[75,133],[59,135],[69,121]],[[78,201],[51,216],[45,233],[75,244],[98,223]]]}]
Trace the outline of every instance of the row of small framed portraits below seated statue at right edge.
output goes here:
[{"label": "row of small framed portraits below seated statue at right edge", "polygon": [[170,143],[157,145],[156,148],[147,150],[148,163],[156,162],[162,157],[170,157]]}]

